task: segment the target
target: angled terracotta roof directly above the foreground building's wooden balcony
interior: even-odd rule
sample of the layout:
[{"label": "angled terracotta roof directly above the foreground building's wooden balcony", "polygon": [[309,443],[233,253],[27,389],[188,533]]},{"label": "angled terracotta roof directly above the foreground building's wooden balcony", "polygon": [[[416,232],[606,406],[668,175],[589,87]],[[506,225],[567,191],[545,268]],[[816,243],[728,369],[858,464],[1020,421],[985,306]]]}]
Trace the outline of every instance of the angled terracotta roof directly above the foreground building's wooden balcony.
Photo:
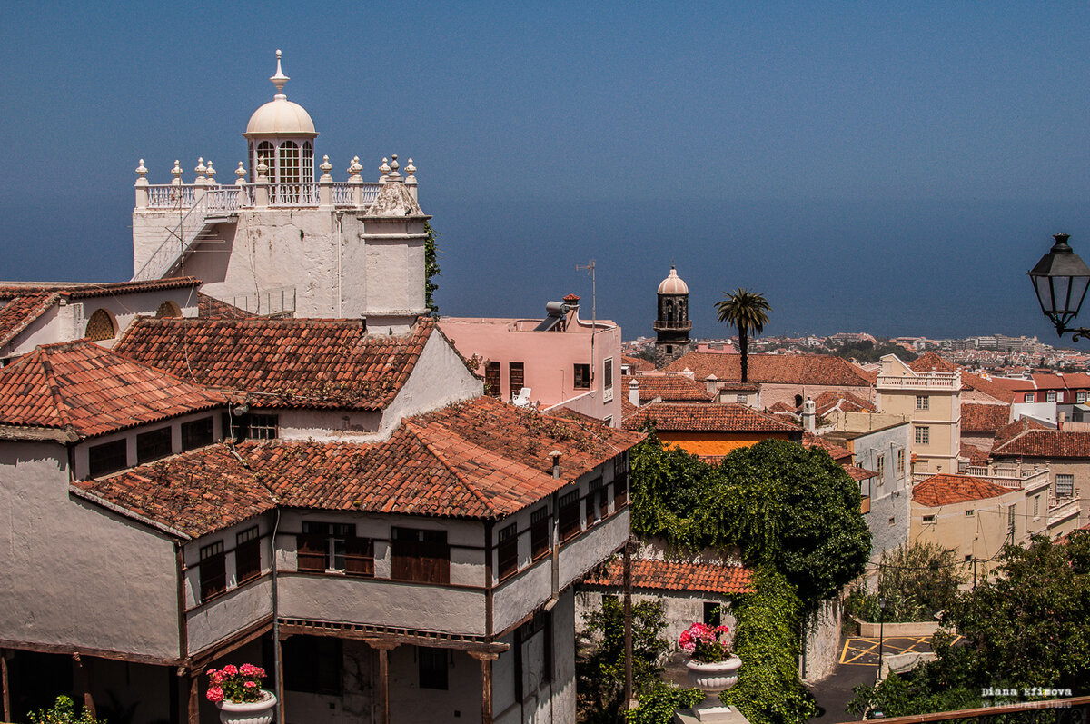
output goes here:
[{"label": "angled terracotta roof directly above the foreground building's wooden balcony", "polygon": [[[583,415],[542,415],[481,397],[405,419],[383,443],[247,442],[238,446],[245,464],[217,445],[77,485],[191,535],[266,509],[255,474],[288,507],[495,519],[642,438]],[[225,499],[237,507],[221,517]]]}]

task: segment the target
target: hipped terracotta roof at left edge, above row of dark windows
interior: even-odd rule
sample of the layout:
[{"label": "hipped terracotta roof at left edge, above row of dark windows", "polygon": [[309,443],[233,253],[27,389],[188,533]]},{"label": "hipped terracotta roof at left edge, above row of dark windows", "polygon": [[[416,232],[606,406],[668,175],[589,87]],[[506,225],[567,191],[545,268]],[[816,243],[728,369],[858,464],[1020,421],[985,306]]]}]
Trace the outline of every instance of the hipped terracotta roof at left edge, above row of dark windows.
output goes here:
[{"label": "hipped terracotta roof at left edge, above row of dark windows", "polygon": [[82,436],[225,405],[222,395],[88,342],[45,345],[0,370],[0,424]]}]

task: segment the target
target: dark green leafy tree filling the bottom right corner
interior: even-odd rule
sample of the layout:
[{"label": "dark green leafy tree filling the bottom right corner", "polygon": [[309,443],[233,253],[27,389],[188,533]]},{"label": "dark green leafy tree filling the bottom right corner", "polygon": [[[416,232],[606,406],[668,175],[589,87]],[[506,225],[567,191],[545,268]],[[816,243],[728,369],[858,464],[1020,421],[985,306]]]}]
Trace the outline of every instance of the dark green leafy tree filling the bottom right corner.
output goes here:
[{"label": "dark green leafy tree filling the bottom right corner", "polygon": [[[1066,544],[1036,538],[1008,545],[993,580],[959,593],[943,614],[935,660],[857,688],[849,709],[887,716],[982,705],[982,688],[1047,686],[1085,690],[1090,681],[1090,532]],[[953,630],[964,642],[955,645]],[[991,703],[991,702],[988,702]]]}]

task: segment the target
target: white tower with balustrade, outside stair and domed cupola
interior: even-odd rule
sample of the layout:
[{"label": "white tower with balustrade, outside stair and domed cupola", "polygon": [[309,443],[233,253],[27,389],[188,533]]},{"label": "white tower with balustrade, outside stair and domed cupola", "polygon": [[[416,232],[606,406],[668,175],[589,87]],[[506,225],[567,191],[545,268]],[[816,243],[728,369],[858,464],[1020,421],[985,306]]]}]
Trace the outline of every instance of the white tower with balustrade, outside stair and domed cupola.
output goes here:
[{"label": "white tower with balustrade, outside stair and domed cupola", "polygon": [[310,113],[288,100],[277,50],[272,100],[250,118],[243,161],[223,185],[211,161],[196,178],[152,184],[143,159],[133,210],[134,280],[193,276],[202,291],[254,314],[366,317],[372,331],[409,328],[425,310],[424,224],[416,168],[402,176],[398,157],[384,158],[365,182],[359,157],[335,182],[324,156],[315,176]]}]

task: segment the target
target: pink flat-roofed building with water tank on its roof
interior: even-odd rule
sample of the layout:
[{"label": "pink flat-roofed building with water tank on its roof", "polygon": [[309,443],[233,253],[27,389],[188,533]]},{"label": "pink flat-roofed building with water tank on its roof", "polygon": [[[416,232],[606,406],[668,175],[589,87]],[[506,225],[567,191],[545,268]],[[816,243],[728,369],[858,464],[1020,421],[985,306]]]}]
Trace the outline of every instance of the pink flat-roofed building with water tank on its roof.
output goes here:
[{"label": "pink flat-roofed building with water tank on its roof", "polygon": [[580,319],[574,294],[546,311],[544,319],[443,317],[439,327],[463,357],[476,358],[485,394],[620,426],[620,327]]}]

